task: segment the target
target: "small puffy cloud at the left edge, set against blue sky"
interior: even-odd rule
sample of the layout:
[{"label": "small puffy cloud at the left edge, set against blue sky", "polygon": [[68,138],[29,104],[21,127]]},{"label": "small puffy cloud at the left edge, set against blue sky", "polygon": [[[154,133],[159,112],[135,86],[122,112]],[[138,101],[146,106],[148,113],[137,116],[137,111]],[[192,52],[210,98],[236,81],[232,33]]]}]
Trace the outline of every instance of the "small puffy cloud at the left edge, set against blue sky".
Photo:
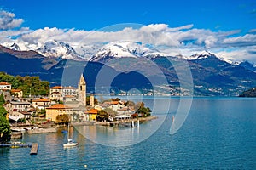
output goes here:
[{"label": "small puffy cloud at the left edge, set against blue sky", "polygon": [[0,11],[0,30],[13,29],[20,27],[23,23],[22,19],[15,19],[14,13],[9,13],[7,11]]}]

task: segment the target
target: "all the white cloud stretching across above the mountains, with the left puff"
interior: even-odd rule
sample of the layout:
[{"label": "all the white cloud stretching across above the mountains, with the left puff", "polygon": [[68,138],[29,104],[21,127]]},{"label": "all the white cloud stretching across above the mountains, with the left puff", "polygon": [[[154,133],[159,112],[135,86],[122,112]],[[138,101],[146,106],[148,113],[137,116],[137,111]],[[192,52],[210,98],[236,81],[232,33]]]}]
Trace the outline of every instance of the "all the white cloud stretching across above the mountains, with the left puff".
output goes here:
[{"label": "all the white cloud stretching across above the mountains, with the left puff", "polygon": [[[0,12],[0,29],[20,26],[23,20],[15,14]],[[3,25],[9,23],[9,25]],[[170,27],[166,24],[123,24],[108,26],[98,31],[59,29],[45,27],[38,30],[20,28],[0,31],[0,43],[17,42],[22,49],[35,49],[44,42],[57,40],[69,43],[80,53],[92,53],[106,42],[137,41],[150,43],[167,54],[195,54],[202,50],[217,52],[226,59],[255,60],[256,35],[241,35],[240,30],[211,31],[193,28],[193,25]],[[232,49],[232,50],[230,50]],[[234,50],[233,50],[234,49]],[[84,52],[86,51],[86,52]]]}]

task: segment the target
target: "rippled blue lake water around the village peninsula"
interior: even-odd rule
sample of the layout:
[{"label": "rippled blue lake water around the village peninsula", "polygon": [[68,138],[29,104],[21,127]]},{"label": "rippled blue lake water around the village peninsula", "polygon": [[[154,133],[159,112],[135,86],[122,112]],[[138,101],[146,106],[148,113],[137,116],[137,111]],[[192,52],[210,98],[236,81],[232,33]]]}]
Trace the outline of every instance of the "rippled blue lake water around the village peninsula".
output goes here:
[{"label": "rippled blue lake water around the village peninsula", "polygon": [[[143,102],[149,107],[154,103],[150,97]],[[160,108],[169,104],[163,114]],[[67,134],[61,129],[25,135],[22,141],[38,142],[38,155],[29,155],[30,148],[0,148],[0,168],[256,169],[256,99],[194,98],[183,126],[171,135],[178,104],[179,98],[161,98],[163,107],[153,113],[159,119],[136,128],[72,128],[71,136],[79,142],[75,148],[63,149]],[[149,130],[155,132],[148,136]],[[129,143],[133,137],[136,144]],[[108,143],[99,144],[103,139]]]}]

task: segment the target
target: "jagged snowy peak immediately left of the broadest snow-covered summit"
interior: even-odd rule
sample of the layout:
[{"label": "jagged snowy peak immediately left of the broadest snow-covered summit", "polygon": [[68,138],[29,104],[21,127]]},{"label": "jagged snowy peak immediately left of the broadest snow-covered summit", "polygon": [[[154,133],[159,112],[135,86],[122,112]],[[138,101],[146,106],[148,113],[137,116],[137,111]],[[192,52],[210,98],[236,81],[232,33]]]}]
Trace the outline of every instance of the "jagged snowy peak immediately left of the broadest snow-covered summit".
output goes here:
[{"label": "jagged snowy peak immediately left of the broadest snow-covered summit", "polygon": [[82,57],[66,42],[49,41],[36,50],[45,57],[81,60]]}]

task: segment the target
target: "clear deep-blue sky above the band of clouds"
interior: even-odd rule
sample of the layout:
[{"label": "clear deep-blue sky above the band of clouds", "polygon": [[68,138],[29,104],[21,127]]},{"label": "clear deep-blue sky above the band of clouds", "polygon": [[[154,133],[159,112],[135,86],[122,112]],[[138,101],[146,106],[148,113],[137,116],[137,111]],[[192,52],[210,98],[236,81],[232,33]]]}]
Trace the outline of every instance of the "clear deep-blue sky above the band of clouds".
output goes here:
[{"label": "clear deep-blue sky above the band of clouds", "polygon": [[242,0],[83,1],[0,0],[0,8],[24,19],[32,29],[99,29],[119,23],[183,26],[212,31],[256,28],[256,2]]}]

